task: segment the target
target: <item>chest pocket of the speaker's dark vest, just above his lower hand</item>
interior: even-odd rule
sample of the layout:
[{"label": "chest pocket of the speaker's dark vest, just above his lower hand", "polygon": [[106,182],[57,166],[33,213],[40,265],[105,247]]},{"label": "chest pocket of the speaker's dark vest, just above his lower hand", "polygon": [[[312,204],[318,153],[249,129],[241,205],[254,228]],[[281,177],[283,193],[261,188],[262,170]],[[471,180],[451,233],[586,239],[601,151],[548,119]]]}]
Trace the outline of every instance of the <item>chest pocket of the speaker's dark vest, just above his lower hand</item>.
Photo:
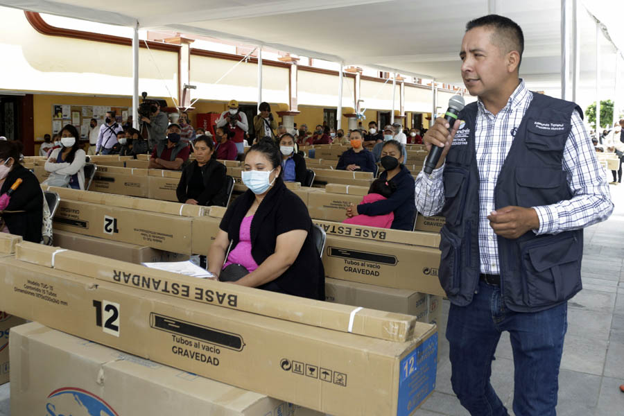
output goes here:
[{"label": "chest pocket of the speaker's dark vest, just above his lower hand", "polygon": [[520,207],[551,205],[564,199],[562,184],[567,189],[565,172],[561,168],[516,168],[516,202]]}]

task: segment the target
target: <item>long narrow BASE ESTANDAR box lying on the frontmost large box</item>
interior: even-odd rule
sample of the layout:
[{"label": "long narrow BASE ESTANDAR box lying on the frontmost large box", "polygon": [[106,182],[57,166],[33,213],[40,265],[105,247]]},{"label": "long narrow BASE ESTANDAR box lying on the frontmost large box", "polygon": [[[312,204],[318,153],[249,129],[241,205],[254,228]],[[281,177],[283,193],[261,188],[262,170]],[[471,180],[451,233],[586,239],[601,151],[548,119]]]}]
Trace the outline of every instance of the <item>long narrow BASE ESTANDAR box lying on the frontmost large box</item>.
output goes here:
[{"label": "long narrow BASE ESTANDAR box lying on the frontmost large box", "polygon": [[[343,305],[328,304],[281,293],[196,279],[90,254],[24,243],[18,245],[17,259],[62,272],[92,277],[112,284],[165,294],[198,304],[210,304],[238,311],[257,313],[300,324],[349,332],[384,340],[405,341],[414,336],[415,318],[379,313]],[[76,261],[76,258],[80,261]],[[171,288],[177,288],[172,290]]]}]

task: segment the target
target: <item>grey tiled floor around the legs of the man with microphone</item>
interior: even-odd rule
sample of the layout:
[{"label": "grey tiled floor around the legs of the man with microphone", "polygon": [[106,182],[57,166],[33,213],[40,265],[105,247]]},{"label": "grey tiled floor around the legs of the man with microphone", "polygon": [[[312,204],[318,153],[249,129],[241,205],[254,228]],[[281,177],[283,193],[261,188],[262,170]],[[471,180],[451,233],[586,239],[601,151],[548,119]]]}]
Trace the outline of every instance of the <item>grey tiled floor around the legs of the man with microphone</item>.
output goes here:
[{"label": "grey tiled floor around the legs of the man with microphone", "polygon": [[[614,213],[584,233],[583,290],[568,304],[568,332],[559,377],[557,415],[624,415],[624,184],[611,186]],[[449,304],[445,302],[447,315]],[[440,324],[440,345],[446,321]],[[492,366],[492,385],[510,415],[513,402],[512,350],[503,334]],[[418,416],[463,416],[451,389],[451,365],[442,354],[433,395]]]}]

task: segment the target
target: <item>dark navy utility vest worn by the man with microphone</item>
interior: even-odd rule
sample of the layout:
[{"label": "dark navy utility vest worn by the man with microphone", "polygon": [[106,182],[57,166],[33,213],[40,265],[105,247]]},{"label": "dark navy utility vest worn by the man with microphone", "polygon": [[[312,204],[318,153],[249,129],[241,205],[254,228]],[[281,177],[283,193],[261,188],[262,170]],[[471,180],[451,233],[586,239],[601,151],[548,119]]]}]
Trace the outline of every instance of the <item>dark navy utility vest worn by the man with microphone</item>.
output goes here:
[{"label": "dark navy utility vest worn by the man with microphone", "polygon": [[[453,304],[472,302],[478,288],[479,172],[475,156],[477,103],[459,114],[465,121],[453,139],[444,166],[439,277]],[[537,207],[572,198],[563,152],[573,110],[568,101],[533,94],[514,136],[494,188],[496,209],[515,205]],[[501,292],[512,311],[548,309],[581,290],[582,229],[536,236],[532,230],[516,240],[496,236],[499,243]]]}]

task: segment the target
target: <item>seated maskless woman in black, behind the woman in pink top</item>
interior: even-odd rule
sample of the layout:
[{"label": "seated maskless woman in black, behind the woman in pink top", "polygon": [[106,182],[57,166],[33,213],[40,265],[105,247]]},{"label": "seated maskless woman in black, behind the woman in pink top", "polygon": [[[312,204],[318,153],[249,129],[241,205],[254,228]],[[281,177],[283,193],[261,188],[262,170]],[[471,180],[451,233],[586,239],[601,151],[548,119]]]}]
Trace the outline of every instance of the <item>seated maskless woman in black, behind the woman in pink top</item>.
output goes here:
[{"label": "seated maskless woman in black, behind the woman in pink top", "polygon": [[175,191],[177,200],[192,205],[220,205],[225,207],[226,168],[212,159],[214,143],[208,136],[199,136],[193,143],[195,160],[182,170]]}]

